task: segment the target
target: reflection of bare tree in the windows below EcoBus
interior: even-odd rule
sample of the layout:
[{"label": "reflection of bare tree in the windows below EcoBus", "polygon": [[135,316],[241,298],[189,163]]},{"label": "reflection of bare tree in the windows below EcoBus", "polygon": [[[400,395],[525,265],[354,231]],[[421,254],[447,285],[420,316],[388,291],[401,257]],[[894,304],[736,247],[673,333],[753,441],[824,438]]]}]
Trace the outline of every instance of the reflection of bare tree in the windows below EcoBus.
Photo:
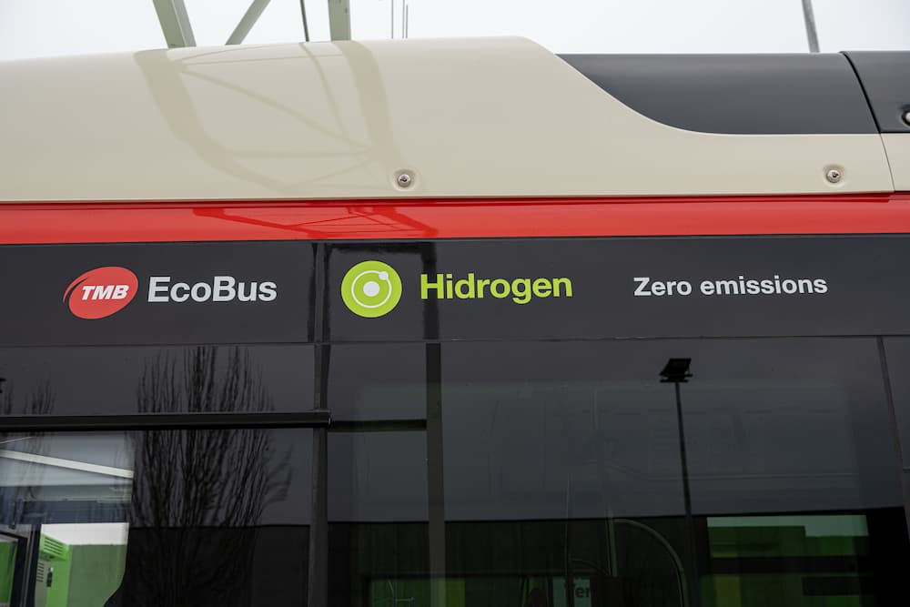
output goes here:
[{"label": "reflection of bare tree in the windows below EcoBus", "polygon": [[[272,410],[245,349],[189,348],[147,365],[141,412]],[[136,436],[123,605],[250,604],[255,525],[289,484],[267,430],[164,430]]]}]

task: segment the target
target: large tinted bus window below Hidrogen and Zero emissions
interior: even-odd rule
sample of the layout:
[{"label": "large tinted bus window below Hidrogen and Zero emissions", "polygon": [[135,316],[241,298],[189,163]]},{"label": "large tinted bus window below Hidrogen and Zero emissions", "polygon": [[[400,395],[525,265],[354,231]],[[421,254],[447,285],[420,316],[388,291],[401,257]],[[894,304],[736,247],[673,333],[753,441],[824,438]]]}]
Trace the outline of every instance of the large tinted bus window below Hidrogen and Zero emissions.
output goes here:
[{"label": "large tinted bus window below Hidrogen and Zero emissions", "polygon": [[[385,346],[349,348],[332,365]],[[910,562],[875,339],[412,348],[439,358],[410,388],[404,372],[377,392],[332,370],[359,419],[427,414],[424,432],[333,432],[332,604],[900,601]],[[659,375],[671,358],[692,361],[678,399]]]}]

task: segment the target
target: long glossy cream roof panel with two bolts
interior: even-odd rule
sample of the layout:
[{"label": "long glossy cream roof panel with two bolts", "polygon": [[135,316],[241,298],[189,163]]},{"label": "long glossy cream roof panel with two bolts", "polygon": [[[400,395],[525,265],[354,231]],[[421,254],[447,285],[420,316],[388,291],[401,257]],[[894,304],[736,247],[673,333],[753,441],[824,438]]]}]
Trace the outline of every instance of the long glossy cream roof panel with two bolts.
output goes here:
[{"label": "long glossy cream roof panel with two bolts", "polygon": [[[0,64],[0,82],[6,201],[894,187],[878,135],[665,126],[519,38],[38,59]],[[831,167],[844,176],[834,185]]]}]

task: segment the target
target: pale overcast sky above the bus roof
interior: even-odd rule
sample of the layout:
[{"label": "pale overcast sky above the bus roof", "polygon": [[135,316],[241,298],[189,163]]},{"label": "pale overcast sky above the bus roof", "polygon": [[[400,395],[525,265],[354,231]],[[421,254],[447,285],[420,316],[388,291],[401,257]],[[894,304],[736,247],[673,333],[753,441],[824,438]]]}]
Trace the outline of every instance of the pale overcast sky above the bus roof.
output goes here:
[{"label": "pale overcast sky above the bus roof", "polygon": [[[221,45],[249,0],[185,0],[199,46]],[[401,34],[406,0],[350,0],[355,39]],[[910,0],[812,0],[822,51],[910,49]],[[802,0],[408,0],[409,37],[523,35],[557,53],[808,49]],[[306,0],[313,40],[327,0]],[[249,44],[303,40],[299,0],[271,0]],[[152,0],[0,0],[0,59],[165,46]]]}]

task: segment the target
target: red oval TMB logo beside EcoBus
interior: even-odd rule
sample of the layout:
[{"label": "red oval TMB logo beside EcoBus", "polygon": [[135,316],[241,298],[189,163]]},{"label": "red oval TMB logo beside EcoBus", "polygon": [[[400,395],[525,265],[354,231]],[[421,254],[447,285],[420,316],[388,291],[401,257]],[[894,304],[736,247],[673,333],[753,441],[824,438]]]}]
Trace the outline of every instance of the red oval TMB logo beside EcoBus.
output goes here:
[{"label": "red oval TMB logo beside EcoBus", "polygon": [[139,280],[126,268],[106,266],[88,270],[66,288],[63,300],[80,319],[103,319],[136,297]]}]

